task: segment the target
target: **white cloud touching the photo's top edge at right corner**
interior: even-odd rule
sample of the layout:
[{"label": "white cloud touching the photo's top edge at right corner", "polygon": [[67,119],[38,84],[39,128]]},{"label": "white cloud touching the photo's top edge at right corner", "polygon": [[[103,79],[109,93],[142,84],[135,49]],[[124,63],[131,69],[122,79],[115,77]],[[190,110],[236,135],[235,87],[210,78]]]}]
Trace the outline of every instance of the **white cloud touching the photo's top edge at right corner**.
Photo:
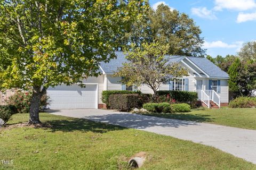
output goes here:
[{"label": "white cloud touching the photo's top edge at right corner", "polygon": [[255,0],[215,0],[215,11],[223,8],[229,10],[246,11],[256,7]]}]

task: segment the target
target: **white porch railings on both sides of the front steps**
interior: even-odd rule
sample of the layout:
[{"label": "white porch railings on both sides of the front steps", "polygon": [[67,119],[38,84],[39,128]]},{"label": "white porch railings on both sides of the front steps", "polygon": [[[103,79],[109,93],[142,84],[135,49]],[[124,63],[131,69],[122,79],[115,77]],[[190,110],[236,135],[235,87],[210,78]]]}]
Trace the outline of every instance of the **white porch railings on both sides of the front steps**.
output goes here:
[{"label": "white porch railings on both sides of the front steps", "polygon": [[198,99],[210,108],[210,100],[212,100],[220,108],[220,96],[214,90],[196,90]]}]

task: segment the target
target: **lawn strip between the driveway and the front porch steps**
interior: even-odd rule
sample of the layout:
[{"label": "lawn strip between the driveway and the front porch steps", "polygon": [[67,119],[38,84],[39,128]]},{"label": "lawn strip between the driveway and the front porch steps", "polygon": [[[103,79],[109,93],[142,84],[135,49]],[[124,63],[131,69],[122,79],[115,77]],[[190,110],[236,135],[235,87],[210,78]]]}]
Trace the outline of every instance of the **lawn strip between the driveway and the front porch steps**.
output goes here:
[{"label": "lawn strip between the driveway and the front porch steps", "polygon": [[256,130],[255,108],[198,108],[188,113],[151,113],[146,115]]}]

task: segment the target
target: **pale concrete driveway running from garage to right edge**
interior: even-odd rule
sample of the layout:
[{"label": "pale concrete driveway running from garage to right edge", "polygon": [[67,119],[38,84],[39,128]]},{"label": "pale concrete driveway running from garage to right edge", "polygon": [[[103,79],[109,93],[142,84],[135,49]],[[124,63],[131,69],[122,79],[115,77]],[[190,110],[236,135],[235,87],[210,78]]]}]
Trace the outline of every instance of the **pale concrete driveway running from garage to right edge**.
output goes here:
[{"label": "pale concrete driveway running from garage to right edge", "polygon": [[181,121],[168,118],[105,111],[101,109],[63,109],[51,114],[86,118],[102,122],[154,132],[212,146],[256,164],[256,131],[208,123]]}]

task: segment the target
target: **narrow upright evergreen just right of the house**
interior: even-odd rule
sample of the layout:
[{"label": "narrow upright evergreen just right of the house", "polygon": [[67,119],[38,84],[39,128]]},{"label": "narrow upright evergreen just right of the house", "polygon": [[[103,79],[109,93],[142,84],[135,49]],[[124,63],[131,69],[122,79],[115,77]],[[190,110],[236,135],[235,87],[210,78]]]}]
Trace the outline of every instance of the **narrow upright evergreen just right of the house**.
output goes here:
[{"label": "narrow upright evergreen just right of the house", "polygon": [[239,69],[241,69],[241,62],[240,62],[239,58],[236,58],[235,62],[233,64],[231,64],[231,66],[228,69],[229,90],[234,92],[234,94],[237,94],[237,92],[239,91],[239,87],[238,87],[238,83],[237,83]]}]

